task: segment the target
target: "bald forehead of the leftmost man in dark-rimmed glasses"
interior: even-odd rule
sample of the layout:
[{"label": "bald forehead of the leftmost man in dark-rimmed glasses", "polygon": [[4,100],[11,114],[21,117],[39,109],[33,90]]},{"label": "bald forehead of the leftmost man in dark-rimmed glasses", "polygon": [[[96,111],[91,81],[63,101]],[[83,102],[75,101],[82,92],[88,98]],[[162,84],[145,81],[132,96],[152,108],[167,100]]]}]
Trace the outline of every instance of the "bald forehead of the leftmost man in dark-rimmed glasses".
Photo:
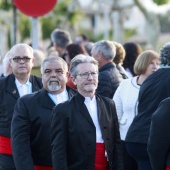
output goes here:
[{"label": "bald forehead of the leftmost man in dark-rimmed glasses", "polygon": [[24,47],[24,46],[20,46],[20,47],[16,47],[16,48],[12,49],[11,54],[12,54],[12,57],[15,57],[15,56],[19,56],[19,57],[27,56],[27,57],[33,58],[32,51],[29,48]]}]

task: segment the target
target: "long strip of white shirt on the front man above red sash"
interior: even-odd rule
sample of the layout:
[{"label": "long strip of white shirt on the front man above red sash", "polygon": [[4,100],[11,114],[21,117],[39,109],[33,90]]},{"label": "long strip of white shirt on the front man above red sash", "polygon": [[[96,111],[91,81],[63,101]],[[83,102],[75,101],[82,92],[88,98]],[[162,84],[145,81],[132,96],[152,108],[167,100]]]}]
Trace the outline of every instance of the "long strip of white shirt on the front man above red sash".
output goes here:
[{"label": "long strip of white shirt on the front man above red sash", "polygon": [[96,127],[96,143],[104,143],[97,115],[96,97],[94,96],[93,99],[90,99],[90,97],[85,97],[84,104],[86,105],[89,114],[93,120],[93,123]]}]

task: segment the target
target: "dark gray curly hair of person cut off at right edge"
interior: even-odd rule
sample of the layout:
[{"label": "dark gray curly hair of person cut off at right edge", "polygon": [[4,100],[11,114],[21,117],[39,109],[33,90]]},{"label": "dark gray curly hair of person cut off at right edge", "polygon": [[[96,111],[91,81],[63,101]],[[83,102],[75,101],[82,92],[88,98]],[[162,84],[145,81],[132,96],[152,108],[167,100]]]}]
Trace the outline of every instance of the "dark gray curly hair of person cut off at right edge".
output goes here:
[{"label": "dark gray curly hair of person cut off at right edge", "polygon": [[170,66],[170,42],[165,43],[160,49],[161,64]]}]

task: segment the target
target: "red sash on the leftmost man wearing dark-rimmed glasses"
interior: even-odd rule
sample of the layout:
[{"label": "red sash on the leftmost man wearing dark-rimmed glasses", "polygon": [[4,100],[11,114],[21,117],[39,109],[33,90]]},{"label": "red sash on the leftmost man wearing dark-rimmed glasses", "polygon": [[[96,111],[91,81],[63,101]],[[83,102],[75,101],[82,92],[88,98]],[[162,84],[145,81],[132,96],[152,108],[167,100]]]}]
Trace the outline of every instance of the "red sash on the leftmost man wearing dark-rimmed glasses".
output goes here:
[{"label": "red sash on the leftmost man wearing dark-rimmed glasses", "polygon": [[0,136],[0,153],[12,155],[11,139]]}]

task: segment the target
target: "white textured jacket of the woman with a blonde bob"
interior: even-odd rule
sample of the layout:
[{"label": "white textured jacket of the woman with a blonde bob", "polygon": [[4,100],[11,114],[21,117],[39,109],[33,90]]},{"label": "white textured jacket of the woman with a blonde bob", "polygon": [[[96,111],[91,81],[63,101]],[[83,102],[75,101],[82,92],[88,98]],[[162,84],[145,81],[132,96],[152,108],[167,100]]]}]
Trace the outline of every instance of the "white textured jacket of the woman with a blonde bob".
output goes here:
[{"label": "white textured jacket of the woman with a blonde bob", "polygon": [[113,96],[119,120],[121,140],[125,140],[129,126],[137,115],[140,86],[137,85],[136,79],[137,76],[123,80]]}]

